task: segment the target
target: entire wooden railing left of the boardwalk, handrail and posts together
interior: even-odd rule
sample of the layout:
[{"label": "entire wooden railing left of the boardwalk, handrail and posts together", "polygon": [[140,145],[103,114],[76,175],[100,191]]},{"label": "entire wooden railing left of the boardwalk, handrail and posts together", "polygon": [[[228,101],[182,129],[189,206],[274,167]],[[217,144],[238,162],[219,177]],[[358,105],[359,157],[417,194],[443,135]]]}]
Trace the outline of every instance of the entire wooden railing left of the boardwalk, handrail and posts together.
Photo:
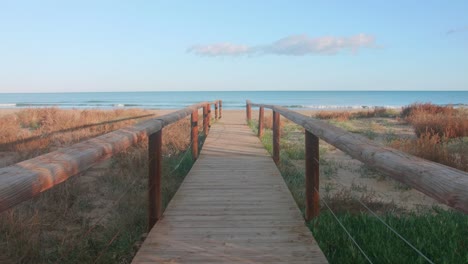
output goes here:
[{"label": "entire wooden railing left of the boardwalk, handrail and posts together", "polygon": [[198,157],[198,110],[203,108],[203,128],[207,134],[211,105],[221,118],[222,101],[203,102],[92,138],[68,148],[0,169],[0,213],[44,192],[93,165],[148,138],[149,228],[161,217],[162,128],[191,115],[192,154]]}]

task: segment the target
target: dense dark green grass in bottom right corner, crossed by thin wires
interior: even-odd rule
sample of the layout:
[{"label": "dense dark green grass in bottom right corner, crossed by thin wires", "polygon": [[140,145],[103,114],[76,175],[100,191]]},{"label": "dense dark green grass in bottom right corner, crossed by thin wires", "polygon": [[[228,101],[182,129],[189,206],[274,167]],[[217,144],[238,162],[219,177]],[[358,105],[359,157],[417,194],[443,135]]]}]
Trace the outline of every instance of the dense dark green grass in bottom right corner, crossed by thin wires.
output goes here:
[{"label": "dense dark green grass in bottom right corner, crossed by thin wires", "polygon": [[[377,218],[368,214],[339,212],[338,219],[374,263],[427,263]],[[468,218],[462,213],[382,216],[434,263],[468,262]],[[330,263],[367,263],[332,214],[324,209],[308,227]]]}]

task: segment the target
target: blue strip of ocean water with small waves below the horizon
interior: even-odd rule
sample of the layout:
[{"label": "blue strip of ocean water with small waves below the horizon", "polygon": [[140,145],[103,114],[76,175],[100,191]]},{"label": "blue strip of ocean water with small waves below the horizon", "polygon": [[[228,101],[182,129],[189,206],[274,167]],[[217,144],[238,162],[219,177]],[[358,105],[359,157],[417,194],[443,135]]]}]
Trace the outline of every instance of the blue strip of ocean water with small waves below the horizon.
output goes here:
[{"label": "blue strip of ocean water with small waves below the horizon", "polygon": [[468,91],[210,91],[0,94],[0,108],[183,108],[223,100],[225,109],[241,109],[247,99],[296,109],[398,108],[415,102],[468,106]]}]

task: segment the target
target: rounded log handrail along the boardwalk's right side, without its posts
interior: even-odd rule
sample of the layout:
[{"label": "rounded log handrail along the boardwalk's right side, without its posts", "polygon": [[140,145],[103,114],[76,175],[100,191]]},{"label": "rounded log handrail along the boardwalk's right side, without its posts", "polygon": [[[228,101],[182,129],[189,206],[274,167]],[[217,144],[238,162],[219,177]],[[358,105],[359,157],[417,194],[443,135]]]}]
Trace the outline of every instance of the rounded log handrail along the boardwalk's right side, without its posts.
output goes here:
[{"label": "rounded log handrail along the boardwalk's right side, without its posts", "polygon": [[[249,105],[247,109],[252,106],[264,107],[280,113],[364,164],[441,203],[468,213],[468,173],[464,171],[382,146],[363,136],[352,134],[327,122],[281,106],[255,104],[249,100],[247,100],[247,105]],[[318,186],[314,186],[314,188],[319,189]]]}]

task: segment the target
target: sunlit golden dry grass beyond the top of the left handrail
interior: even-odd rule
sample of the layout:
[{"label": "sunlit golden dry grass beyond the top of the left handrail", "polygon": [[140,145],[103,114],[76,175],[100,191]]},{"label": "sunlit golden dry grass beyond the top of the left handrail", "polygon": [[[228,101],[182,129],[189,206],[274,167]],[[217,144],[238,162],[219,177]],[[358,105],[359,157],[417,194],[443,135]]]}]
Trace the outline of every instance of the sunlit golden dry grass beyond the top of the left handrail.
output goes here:
[{"label": "sunlit golden dry grass beyond the top of the left handrail", "polygon": [[[125,127],[149,115],[141,109],[63,110],[31,108],[0,117],[0,151],[18,154],[16,162]],[[90,124],[93,126],[85,127]]]}]

